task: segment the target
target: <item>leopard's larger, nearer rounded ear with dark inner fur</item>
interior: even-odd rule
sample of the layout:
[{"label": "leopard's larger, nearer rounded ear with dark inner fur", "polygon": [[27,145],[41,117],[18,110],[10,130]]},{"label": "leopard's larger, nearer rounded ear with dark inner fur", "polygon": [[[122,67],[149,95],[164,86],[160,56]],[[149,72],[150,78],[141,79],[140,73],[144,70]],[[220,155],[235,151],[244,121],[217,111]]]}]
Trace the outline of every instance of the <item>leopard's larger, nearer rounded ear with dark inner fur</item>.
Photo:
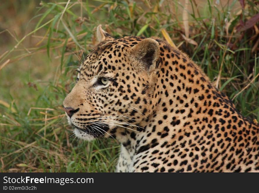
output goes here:
[{"label": "leopard's larger, nearer rounded ear with dark inner fur", "polygon": [[132,59],[141,64],[149,73],[157,68],[159,60],[159,43],[153,38],[146,38],[131,48]]}]

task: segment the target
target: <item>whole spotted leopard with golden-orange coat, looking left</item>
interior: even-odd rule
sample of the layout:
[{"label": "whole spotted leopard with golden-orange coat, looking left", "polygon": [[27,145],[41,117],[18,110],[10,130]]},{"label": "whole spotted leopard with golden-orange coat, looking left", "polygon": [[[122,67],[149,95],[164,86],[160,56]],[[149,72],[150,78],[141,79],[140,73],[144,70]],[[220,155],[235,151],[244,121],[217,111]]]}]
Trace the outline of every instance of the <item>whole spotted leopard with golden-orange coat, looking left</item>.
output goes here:
[{"label": "whole spotted leopard with golden-orange coat, looking left", "polygon": [[121,144],[116,172],[259,172],[258,123],[187,54],[101,25],[96,39],[63,106],[79,139]]}]

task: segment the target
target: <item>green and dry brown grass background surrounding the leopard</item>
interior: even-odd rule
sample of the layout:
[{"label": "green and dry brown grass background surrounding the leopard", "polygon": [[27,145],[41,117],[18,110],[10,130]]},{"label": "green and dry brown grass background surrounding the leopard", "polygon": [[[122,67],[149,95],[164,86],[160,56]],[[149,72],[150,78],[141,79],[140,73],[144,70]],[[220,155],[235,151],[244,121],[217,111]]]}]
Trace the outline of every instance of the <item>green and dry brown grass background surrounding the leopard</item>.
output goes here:
[{"label": "green and dry brown grass background surrounding the leopard", "polygon": [[[259,120],[259,30],[253,20],[259,1],[247,0],[243,9],[237,0],[29,2],[1,6],[2,13],[17,13],[2,19],[0,33],[6,40],[0,52],[1,172],[115,171],[119,144],[74,140],[62,110],[76,66],[97,43],[98,24],[116,38],[165,38],[200,65],[245,117]],[[25,27],[18,23],[24,11]]]}]

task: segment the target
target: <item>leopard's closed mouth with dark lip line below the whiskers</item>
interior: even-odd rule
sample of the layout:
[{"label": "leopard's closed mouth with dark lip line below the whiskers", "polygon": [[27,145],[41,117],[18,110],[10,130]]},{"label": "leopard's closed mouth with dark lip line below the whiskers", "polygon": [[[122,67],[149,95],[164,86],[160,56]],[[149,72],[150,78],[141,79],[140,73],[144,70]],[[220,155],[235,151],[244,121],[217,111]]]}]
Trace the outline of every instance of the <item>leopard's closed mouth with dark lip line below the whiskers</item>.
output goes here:
[{"label": "leopard's closed mouth with dark lip line below the whiskers", "polygon": [[81,127],[77,127],[76,125],[72,124],[72,126],[74,127],[74,129],[77,129],[79,131],[82,131],[88,135],[91,135],[92,137],[99,137],[99,136],[104,136],[105,133],[109,130],[108,125],[104,125],[104,126],[97,126],[95,124],[91,124],[91,125],[85,125],[83,128]]}]

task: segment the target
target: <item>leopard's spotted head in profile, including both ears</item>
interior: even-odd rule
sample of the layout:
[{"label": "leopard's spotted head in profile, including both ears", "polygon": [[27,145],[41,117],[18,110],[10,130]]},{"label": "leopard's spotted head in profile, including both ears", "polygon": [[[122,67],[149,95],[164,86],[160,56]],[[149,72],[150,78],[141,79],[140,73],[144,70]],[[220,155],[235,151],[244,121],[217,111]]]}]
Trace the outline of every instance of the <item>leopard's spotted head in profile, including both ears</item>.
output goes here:
[{"label": "leopard's spotted head in profile, including both ears", "polygon": [[105,40],[86,57],[76,85],[63,102],[75,135],[84,140],[116,138],[126,127],[142,130],[141,122],[154,105],[157,41],[132,36],[113,39],[98,31],[106,35]]}]

